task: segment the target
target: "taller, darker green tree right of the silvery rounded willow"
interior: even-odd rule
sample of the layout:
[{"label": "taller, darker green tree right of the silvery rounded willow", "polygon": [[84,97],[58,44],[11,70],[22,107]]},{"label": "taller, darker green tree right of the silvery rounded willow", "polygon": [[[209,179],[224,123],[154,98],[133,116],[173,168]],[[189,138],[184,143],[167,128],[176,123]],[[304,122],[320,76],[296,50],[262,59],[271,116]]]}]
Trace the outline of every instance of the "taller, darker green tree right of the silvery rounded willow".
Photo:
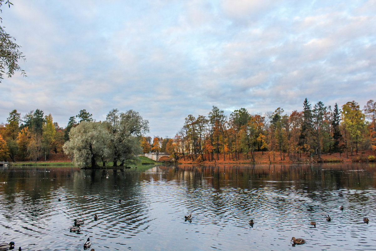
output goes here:
[{"label": "taller, darker green tree right of the silvery rounded willow", "polygon": [[133,110],[119,113],[119,110],[112,109],[104,123],[111,137],[108,146],[114,166],[118,161],[123,166],[127,160],[138,159],[137,155],[143,152],[138,137],[149,132],[149,121]]}]

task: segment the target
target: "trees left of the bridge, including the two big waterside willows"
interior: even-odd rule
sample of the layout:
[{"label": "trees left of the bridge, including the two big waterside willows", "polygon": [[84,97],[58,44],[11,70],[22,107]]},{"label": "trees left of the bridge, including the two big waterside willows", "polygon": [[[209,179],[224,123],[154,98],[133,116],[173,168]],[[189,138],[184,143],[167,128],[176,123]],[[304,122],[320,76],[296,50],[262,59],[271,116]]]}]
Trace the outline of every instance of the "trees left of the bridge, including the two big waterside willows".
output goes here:
[{"label": "trees left of the bridge, including the two big waterside willows", "polygon": [[69,118],[66,128],[53,122],[52,115],[36,109],[22,119],[11,111],[0,125],[0,160],[25,161],[47,159],[52,152],[69,155],[79,166],[97,166],[112,161],[124,165],[142,152],[139,140],[149,132],[149,122],[138,112],[111,110],[106,120],[96,122],[92,114],[80,110]]}]

